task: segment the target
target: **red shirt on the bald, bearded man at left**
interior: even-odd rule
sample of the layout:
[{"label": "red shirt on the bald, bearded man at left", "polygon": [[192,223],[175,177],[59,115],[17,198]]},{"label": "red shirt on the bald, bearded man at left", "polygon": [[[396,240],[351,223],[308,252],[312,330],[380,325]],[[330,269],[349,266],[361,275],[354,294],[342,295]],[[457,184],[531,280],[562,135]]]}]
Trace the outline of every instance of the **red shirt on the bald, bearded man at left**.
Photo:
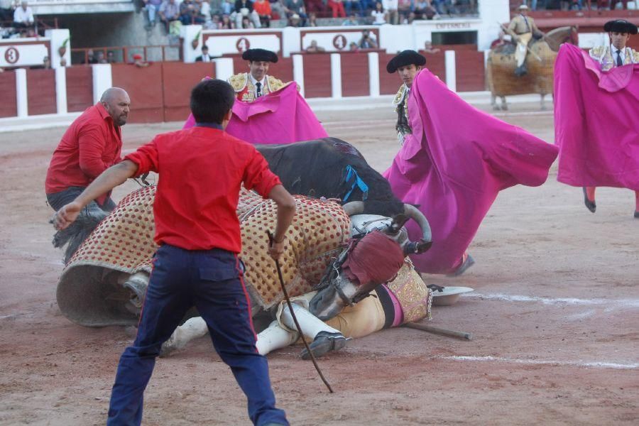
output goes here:
[{"label": "red shirt on the bald, bearded man at left", "polygon": [[[62,136],[53,152],[45,191],[53,194],[68,187],[87,187],[100,173],[120,161],[122,137],[102,104],[87,108]],[[104,202],[108,195],[98,201]]]}]

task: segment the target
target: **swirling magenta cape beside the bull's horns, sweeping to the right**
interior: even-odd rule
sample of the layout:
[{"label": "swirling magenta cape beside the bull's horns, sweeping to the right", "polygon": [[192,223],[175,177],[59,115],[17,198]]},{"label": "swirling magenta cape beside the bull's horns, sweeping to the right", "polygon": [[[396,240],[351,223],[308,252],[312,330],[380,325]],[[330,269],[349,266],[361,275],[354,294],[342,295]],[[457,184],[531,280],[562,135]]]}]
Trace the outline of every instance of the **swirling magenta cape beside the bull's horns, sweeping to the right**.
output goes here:
[{"label": "swirling magenta cape beside the bull's horns, sweeping to the right", "polygon": [[[538,186],[557,147],[466,104],[422,70],[408,100],[413,134],[384,176],[404,202],[420,204],[432,228],[432,248],[411,256],[420,272],[449,273],[475,236],[497,193]],[[408,222],[410,238],[420,230]]]}]

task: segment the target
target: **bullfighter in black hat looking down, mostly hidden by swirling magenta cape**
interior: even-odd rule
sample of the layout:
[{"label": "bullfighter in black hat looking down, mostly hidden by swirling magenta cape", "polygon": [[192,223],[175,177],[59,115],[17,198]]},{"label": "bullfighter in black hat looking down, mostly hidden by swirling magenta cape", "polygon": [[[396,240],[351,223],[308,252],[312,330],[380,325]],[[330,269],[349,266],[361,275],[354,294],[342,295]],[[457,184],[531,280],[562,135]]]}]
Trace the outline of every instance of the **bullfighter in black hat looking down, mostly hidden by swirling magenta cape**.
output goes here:
[{"label": "bullfighter in black hat looking down, mostly hidden by swirling magenta cape", "polygon": [[415,50],[404,50],[395,56],[395,58],[391,59],[388,65],[386,65],[386,71],[388,71],[389,74],[397,72],[403,82],[395,95],[395,99],[393,99],[393,105],[397,113],[395,130],[397,131],[397,139],[402,145],[404,143],[404,136],[408,133],[413,133],[413,130],[410,129],[410,124],[408,124],[408,96],[410,94],[410,85],[413,84],[415,75],[417,75],[417,72],[422,69],[425,63],[426,58],[415,52]]}]

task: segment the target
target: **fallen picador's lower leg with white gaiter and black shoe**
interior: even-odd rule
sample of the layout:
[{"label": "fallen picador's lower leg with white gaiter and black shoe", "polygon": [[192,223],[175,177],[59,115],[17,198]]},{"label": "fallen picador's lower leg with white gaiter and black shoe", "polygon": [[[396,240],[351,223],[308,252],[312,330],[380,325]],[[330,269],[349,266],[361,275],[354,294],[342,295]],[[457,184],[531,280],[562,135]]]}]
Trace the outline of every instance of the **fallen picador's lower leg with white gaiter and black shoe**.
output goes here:
[{"label": "fallen picador's lower leg with white gaiter and black shoe", "polygon": [[[315,317],[315,315],[312,315],[312,313],[300,305],[294,303],[293,310],[295,311],[295,317],[297,317],[297,322],[300,323],[304,335],[313,339],[313,342],[309,346],[315,357],[344,347],[346,338],[339,330],[329,327],[329,325]],[[295,322],[293,322],[293,317],[290,315],[288,307],[284,307],[282,310],[280,320],[286,327],[295,329]],[[302,351],[302,359],[310,359],[306,348]]]}]

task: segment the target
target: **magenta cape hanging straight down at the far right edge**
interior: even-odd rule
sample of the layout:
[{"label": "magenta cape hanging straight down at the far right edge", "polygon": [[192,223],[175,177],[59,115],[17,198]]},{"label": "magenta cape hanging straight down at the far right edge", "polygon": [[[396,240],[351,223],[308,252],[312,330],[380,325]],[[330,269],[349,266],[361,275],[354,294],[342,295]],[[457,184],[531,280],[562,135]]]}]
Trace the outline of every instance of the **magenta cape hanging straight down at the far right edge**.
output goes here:
[{"label": "magenta cape hanging straight down at the far right edge", "polygon": [[573,45],[555,62],[557,180],[639,190],[639,65],[601,72]]}]

